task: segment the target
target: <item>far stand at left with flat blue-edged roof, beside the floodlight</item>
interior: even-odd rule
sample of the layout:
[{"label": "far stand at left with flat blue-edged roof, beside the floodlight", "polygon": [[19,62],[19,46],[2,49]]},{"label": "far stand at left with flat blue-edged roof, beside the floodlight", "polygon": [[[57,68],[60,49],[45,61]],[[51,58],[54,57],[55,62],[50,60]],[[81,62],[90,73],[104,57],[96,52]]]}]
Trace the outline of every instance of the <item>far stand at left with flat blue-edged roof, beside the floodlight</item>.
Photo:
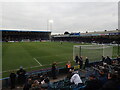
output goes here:
[{"label": "far stand at left with flat blue-edged roof, beside the floodlight", "polygon": [[2,29],[2,41],[41,41],[50,40],[49,30]]}]

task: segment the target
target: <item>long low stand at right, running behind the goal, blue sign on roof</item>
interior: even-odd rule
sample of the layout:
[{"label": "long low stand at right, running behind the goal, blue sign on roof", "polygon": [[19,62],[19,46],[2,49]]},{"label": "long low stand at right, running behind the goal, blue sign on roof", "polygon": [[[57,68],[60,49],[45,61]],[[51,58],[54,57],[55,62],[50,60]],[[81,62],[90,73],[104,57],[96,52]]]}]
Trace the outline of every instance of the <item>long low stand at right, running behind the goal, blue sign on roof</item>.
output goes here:
[{"label": "long low stand at right, running behind the goal, blue sign on roof", "polygon": [[119,43],[120,30],[72,33],[66,35],[52,36],[54,41],[71,41],[71,42],[87,42],[87,43]]}]

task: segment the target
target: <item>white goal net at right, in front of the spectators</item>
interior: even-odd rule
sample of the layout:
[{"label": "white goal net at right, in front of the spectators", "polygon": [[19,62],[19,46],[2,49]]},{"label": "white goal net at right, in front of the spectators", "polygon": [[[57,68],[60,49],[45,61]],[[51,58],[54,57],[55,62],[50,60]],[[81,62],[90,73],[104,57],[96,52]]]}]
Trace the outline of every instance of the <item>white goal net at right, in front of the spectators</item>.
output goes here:
[{"label": "white goal net at right, in front of the spectators", "polygon": [[113,47],[108,45],[74,45],[73,60],[75,60],[76,56],[82,56],[83,60],[88,57],[90,61],[98,61],[101,60],[102,56],[112,58],[112,52]]}]

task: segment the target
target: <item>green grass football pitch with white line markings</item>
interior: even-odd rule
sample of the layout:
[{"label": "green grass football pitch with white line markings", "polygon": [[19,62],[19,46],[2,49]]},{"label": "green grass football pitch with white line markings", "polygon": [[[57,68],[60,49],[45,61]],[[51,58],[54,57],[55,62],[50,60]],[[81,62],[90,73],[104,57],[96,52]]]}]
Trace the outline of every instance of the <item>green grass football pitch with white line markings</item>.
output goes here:
[{"label": "green grass football pitch with white line markings", "polygon": [[[51,67],[53,62],[65,66],[67,61],[73,62],[73,45],[70,42],[3,42],[2,43],[2,71],[3,77],[9,75],[20,66],[26,71]],[[114,56],[117,47],[114,47]],[[74,62],[73,62],[74,63]]]}]

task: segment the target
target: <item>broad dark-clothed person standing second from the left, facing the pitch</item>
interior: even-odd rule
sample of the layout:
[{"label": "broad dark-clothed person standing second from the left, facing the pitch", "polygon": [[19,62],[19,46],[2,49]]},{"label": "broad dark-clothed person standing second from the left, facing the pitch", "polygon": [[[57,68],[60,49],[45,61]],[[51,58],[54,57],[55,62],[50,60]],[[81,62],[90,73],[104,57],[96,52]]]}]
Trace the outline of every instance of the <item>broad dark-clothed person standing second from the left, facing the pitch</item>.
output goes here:
[{"label": "broad dark-clothed person standing second from the left, facing the pitch", "polygon": [[18,83],[20,86],[22,86],[25,83],[26,80],[26,71],[20,67],[20,70],[17,71],[17,75],[18,75]]}]

